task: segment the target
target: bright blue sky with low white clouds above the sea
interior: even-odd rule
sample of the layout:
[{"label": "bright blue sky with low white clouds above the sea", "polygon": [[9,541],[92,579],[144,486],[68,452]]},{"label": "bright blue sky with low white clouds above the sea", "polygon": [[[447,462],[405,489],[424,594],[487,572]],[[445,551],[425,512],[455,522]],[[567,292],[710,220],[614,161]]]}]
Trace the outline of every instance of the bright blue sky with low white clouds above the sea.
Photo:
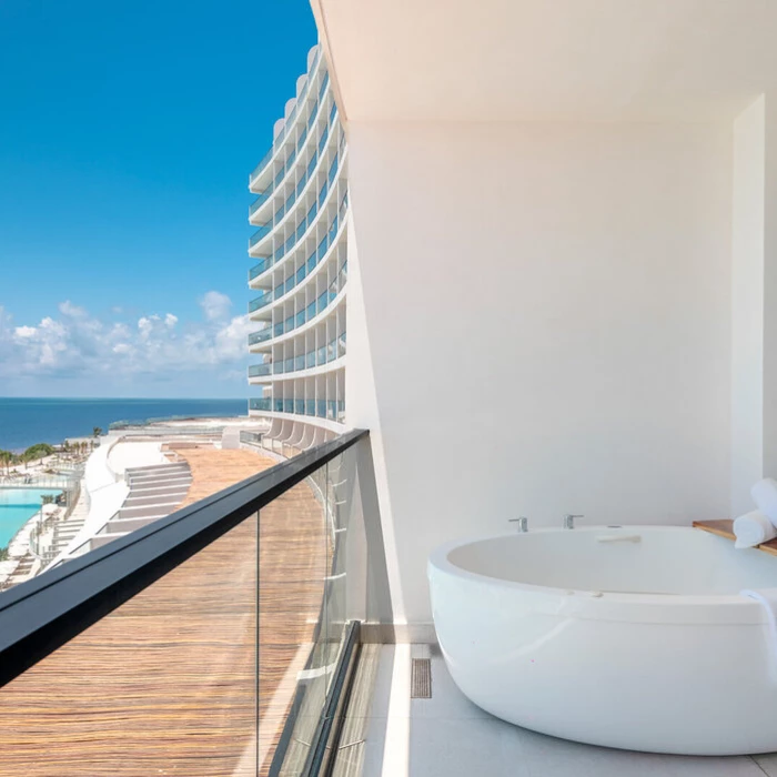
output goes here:
[{"label": "bright blue sky with low white clouds above the sea", "polygon": [[0,396],[248,396],[248,175],[307,0],[0,1]]}]

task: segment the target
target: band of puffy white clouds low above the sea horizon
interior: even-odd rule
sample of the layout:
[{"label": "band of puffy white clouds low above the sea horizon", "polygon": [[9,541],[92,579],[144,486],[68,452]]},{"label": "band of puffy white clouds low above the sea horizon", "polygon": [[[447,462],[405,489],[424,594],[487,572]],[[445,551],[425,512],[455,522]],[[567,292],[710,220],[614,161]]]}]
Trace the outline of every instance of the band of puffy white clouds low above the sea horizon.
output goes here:
[{"label": "band of puffy white clouds low above the sea horizon", "polygon": [[209,292],[199,301],[203,320],[150,313],[137,322],[101,321],[70,301],[59,316],[20,323],[0,306],[0,377],[111,375],[171,376],[212,370],[240,372],[248,356],[248,316],[229,316],[232,301]]}]

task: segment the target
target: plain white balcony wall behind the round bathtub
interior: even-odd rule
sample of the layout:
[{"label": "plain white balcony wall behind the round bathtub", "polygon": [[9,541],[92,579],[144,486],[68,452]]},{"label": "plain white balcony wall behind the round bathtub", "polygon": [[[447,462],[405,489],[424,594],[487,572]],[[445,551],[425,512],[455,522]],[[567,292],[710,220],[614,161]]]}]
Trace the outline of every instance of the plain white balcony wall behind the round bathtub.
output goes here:
[{"label": "plain white balcony wall behind the round bathtub", "polygon": [[431,620],[433,547],[507,518],[729,514],[730,122],[352,121],[349,147],[345,393],[397,620]]}]

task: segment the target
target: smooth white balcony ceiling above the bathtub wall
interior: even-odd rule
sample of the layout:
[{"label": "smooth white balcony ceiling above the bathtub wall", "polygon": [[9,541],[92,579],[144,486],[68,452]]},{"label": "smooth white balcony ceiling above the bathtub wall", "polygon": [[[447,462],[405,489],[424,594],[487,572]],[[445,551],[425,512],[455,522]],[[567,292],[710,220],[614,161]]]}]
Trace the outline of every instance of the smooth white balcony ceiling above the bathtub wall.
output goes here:
[{"label": "smooth white balcony ceiling above the bathtub wall", "polygon": [[777,84],[777,0],[312,0],[349,120],[708,120]]}]

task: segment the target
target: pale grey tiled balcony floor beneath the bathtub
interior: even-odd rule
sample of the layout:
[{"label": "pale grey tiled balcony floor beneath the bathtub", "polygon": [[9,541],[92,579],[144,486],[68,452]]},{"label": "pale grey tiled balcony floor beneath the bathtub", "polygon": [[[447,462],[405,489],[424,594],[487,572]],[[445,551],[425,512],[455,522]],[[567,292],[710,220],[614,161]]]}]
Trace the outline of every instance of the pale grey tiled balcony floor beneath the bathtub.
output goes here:
[{"label": "pale grey tiled balcony floor beneath the bathtub", "polygon": [[465,698],[436,653],[432,698],[411,699],[412,652],[410,645],[381,650],[364,777],[777,777],[777,754],[754,759],[628,753],[518,728]]}]

